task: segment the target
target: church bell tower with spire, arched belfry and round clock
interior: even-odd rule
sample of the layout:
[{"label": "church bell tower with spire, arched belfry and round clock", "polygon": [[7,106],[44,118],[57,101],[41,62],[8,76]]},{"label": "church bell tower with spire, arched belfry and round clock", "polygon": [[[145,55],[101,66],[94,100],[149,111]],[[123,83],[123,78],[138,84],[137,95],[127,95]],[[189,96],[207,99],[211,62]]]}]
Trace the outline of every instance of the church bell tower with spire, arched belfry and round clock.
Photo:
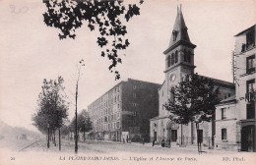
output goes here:
[{"label": "church bell tower with spire, arched belfry and round clock", "polygon": [[[165,55],[165,83],[167,90],[177,85],[185,75],[194,73],[194,45],[188,35],[188,28],[180,7],[177,7],[177,16],[171,32],[171,37]],[[168,92],[169,93],[169,92]],[[168,94],[169,98],[170,94]]]}]

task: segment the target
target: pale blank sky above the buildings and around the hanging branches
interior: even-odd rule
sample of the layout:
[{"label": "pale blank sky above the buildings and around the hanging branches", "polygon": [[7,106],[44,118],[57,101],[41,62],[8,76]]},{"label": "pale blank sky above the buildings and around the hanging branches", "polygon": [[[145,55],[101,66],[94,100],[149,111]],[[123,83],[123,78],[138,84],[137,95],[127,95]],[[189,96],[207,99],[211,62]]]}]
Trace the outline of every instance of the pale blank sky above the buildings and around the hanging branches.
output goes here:
[{"label": "pale blank sky above the buildings and around the hanging branches", "polygon": [[[131,2],[139,2],[132,0]],[[69,118],[75,113],[77,64],[85,59],[79,82],[78,110],[128,78],[152,83],[164,81],[164,55],[176,18],[177,5],[195,48],[195,71],[203,76],[232,82],[231,52],[234,35],[255,25],[256,1],[146,0],[141,15],[127,25],[130,46],[117,68],[121,79],[108,71],[109,61],[100,57],[97,31],[83,26],[76,39],[59,40],[59,30],[46,27],[41,0],[0,0],[0,120],[13,127],[32,126],[32,113],[43,79],[64,78]]]}]

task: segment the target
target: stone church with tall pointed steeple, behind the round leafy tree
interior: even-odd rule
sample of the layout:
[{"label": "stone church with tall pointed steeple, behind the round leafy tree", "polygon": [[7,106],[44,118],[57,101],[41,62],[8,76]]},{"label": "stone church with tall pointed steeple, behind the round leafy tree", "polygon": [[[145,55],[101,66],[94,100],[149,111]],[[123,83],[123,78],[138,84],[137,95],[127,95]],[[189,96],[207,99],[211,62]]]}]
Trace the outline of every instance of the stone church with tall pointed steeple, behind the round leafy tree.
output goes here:
[{"label": "stone church with tall pointed steeple, behind the round leafy tree", "polygon": [[[194,49],[196,45],[190,41],[188,28],[185,25],[181,6],[177,8],[177,16],[171,32],[168,47],[163,54],[165,55],[165,81],[159,88],[159,116],[150,119],[151,140],[157,143],[163,140],[170,140],[171,146],[186,146],[196,144],[197,134],[195,123],[180,125],[169,119],[171,115],[162,106],[171,97],[172,88],[178,85],[186,75],[195,73]],[[200,75],[200,74],[199,74]],[[201,75],[200,75],[201,76]],[[204,76],[201,76],[204,77]],[[207,78],[207,77],[204,77]],[[220,87],[221,99],[233,96],[235,86],[233,83],[208,78]],[[199,136],[206,145],[215,145],[215,121],[200,123]]]}]

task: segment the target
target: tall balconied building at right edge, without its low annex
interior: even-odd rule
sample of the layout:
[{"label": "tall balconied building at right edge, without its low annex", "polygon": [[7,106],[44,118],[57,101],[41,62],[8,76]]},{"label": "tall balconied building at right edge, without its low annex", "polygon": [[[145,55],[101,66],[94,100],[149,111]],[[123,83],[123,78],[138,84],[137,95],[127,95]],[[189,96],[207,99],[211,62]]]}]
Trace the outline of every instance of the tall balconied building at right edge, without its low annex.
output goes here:
[{"label": "tall balconied building at right edge, without its low annex", "polygon": [[256,151],[255,120],[255,29],[249,27],[235,35],[237,125],[241,133],[241,150]]}]

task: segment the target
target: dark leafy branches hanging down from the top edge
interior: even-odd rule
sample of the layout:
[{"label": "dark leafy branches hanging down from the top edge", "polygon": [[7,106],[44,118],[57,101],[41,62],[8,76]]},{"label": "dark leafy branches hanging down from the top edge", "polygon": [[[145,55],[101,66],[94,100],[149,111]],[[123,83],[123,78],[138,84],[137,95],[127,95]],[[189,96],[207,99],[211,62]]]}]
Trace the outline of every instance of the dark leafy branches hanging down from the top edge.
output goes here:
[{"label": "dark leafy branches hanging down from the top edge", "polygon": [[[120,74],[115,70],[118,63],[122,63],[119,51],[129,46],[123,20],[130,21],[133,16],[140,15],[140,8],[136,4],[125,5],[123,0],[43,0],[47,11],[43,14],[43,21],[48,27],[61,30],[59,38],[75,39],[75,31],[87,22],[91,30],[96,27],[99,32],[97,44],[102,49],[101,56],[107,57],[111,64],[108,67],[114,71],[115,80]],[[140,0],[140,4],[143,0]]]}]

